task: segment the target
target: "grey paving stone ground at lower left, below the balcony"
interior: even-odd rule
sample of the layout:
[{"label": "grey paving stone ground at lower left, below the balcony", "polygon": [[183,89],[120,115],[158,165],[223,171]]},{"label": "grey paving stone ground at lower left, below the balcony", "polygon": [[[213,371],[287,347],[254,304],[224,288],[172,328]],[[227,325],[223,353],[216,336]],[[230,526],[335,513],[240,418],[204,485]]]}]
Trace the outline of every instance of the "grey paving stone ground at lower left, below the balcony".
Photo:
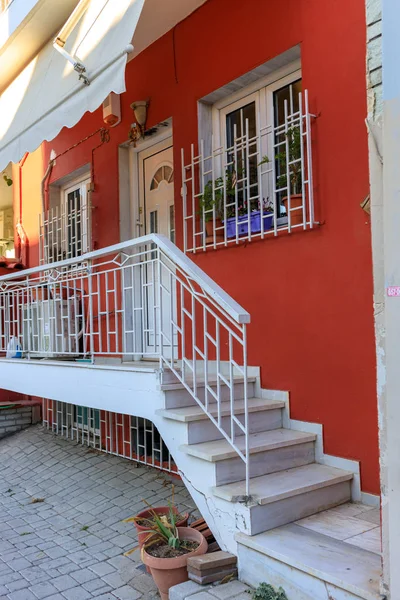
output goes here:
[{"label": "grey paving stone ground at lower left, below the balcony", "polygon": [[[173,482],[178,507],[197,517]],[[0,600],[158,598],[139,552],[123,556],[136,535],[122,520],[143,510],[143,498],[160,505],[170,497],[166,474],[41,425],[0,441]]]}]

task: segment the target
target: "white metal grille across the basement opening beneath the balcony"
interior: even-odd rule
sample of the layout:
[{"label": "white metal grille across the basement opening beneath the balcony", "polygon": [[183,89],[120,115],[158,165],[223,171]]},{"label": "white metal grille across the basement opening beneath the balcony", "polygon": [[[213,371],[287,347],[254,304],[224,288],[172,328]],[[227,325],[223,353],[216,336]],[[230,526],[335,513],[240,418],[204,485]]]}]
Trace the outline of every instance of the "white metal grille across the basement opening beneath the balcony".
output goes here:
[{"label": "white metal grille across the basement opening beneath the balcony", "polygon": [[160,471],[178,472],[161,435],[148,419],[43,399],[43,425],[95,450]]}]

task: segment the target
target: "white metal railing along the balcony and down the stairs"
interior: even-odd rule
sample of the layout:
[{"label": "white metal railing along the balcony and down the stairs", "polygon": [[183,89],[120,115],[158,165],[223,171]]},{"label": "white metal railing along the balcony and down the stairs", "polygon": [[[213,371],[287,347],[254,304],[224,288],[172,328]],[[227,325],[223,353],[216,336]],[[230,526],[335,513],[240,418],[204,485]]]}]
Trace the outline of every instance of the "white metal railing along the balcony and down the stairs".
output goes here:
[{"label": "white metal railing along the balcony and down the stairs", "polygon": [[[245,462],[247,490],[249,322],[248,312],[161,235],[0,277],[0,352],[159,360]],[[238,436],[245,436],[244,448]]]}]

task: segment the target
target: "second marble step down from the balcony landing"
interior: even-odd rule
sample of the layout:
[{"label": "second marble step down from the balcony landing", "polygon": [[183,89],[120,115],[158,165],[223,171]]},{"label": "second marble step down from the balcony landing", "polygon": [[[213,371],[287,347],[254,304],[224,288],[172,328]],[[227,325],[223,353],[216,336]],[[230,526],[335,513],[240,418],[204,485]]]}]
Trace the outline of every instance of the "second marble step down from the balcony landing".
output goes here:
[{"label": "second marble step down from the balcony landing", "polygon": [[[282,427],[282,408],[285,403],[274,400],[263,400],[261,398],[248,399],[249,413],[249,432],[259,433],[271,429]],[[210,403],[209,411],[211,415],[217,419],[218,409],[215,402]],[[156,413],[165,419],[185,423],[188,429],[188,443],[198,444],[200,442],[210,442],[213,440],[224,439],[222,432],[209,419],[203,408],[199,405],[187,406],[183,408],[161,409]],[[220,415],[221,427],[224,431],[230,432],[231,427],[231,403],[221,402]],[[235,400],[234,415],[244,424],[244,402],[243,400]],[[237,425],[235,425],[238,435],[242,433]]]}]

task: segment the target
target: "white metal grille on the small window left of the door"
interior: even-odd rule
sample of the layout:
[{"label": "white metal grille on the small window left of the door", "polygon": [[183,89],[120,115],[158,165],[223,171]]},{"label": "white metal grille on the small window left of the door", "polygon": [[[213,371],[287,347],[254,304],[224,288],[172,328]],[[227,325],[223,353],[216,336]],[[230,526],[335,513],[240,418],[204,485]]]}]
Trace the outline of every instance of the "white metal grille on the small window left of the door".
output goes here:
[{"label": "white metal grille on the small window left of the door", "polygon": [[91,250],[91,208],[70,200],[39,215],[40,264],[76,258]]}]

